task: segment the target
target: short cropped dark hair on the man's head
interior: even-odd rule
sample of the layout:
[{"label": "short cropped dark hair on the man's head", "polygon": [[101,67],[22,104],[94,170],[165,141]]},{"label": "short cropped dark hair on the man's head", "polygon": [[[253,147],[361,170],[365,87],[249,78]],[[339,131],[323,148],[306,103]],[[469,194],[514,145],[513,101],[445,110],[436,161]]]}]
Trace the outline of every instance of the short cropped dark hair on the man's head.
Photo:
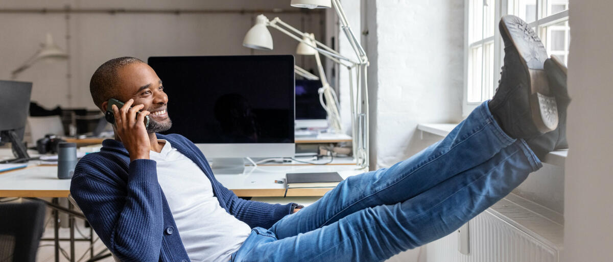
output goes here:
[{"label": "short cropped dark hair on the man's head", "polygon": [[91,76],[91,80],[89,80],[89,92],[91,92],[91,99],[94,100],[97,107],[101,108],[104,101],[113,98],[120,82],[117,74],[119,69],[138,62],[144,63],[138,58],[124,56],[123,58],[110,59],[96,69],[94,75]]}]

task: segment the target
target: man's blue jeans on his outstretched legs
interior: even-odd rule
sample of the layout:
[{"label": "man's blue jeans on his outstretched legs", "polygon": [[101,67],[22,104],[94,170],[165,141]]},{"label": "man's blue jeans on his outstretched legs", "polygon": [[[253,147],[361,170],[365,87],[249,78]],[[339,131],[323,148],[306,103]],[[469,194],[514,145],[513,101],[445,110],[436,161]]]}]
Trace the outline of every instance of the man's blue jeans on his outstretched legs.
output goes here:
[{"label": "man's blue jeans on his outstretched legs", "polygon": [[484,102],[419,154],[351,176],[272,228],[254,228],[232,261],[386,260],[452,233],[541,167]]}]

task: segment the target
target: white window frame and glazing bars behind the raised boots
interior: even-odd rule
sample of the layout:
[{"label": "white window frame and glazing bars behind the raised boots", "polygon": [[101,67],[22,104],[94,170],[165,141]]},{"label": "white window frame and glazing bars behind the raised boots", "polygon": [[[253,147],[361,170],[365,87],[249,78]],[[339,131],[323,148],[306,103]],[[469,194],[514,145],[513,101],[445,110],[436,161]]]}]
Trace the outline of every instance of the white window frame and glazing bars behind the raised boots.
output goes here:
[{"label": "white window frame and glazing bars behind the raised boots", "polygon": [[[469,56],[471,48],[481,44],[482,47],[485,47],[485,43],[491,42],[491,37],[487,37],[485,39],[481,39],[475,42],[470,42],[470,2],[471,1],[484,1],[484,0],[464,0],[464,83],[463,83],[463,105],[462,105],[462,116],[466,118],[471,111],[474,110],[478,105],[481,105],[482,102],[468,102],[468,78],[470,69],[469,69]],[[504,45],[503,41],[500,37],[500,31],[498,30],[498,22],[503,15],[509,13],[509,0],[489,0],[495,4],[494,6],[494,35],[493,35],[493,77],[492,80],[494,87],[498,86],[498,80],[500,80],[500,67],[503,66],[503,58],[504,58]],[[511,0],[513,1],[513,0]],[[533,0],[536,4],[536,20],[528,23],[528,26],[531,28],[535,28],[536,34],[539,38],[543,39],[543,31],[547,31],[547,26],[560,23],[562,21],[568,21],[568,9],[563,10],[562,12],[553,13],[551,15],[547,15],[547,8],[549,8],[550,2],[547,0]],[[546,6],[546,4],[548,6]],[[544,7],[540,8],[539,7]],[[570,41],[570,39],[566,39],[566,41]],[[547,45],[547,43],[543,43]],[[568,47],[568,43],[565,43]],[[568,59],[568,56],[566,56]],[[482,70],[485,72],[485,70]],[[481,75],[483,78],[483,75]],[[481,87],[483,88],[483,86]],[[494,88],[494,89],[495,89]],[[483,93],[483,89],[481,90]]]}]

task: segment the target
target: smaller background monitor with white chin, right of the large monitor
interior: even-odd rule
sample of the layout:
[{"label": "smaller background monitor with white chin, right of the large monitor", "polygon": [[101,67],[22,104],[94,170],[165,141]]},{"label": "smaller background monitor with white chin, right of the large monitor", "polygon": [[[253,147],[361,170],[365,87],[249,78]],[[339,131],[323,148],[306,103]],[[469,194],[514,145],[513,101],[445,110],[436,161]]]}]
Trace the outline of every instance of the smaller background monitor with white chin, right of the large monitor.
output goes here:
[{"label": "smaller background monitor with white chin, right of the large monitor", "polygon": [[[296,80],[296,121],[295,128],[326,128],[327,113],[319,101],[319,80]],[[326,100],[324,99],[324,102]]]}]

